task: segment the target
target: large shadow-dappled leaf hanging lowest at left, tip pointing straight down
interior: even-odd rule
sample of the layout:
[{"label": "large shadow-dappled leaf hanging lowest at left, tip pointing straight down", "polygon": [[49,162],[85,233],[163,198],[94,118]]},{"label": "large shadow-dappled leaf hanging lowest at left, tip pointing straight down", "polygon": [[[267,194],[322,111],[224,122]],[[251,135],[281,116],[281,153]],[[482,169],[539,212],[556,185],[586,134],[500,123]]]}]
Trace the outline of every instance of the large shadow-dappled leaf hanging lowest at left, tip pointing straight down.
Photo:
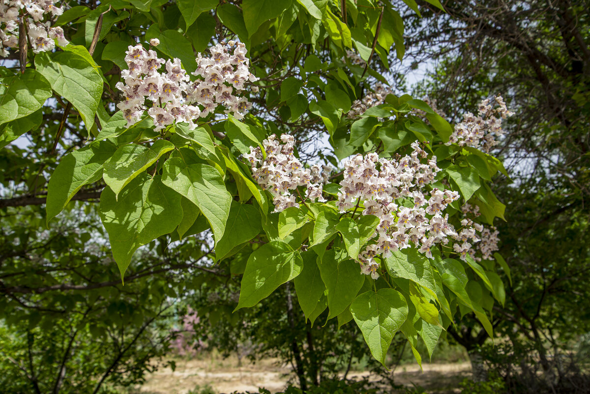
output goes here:
[{"label": "large shadow-dappled leaf hanging lowest at left, tip pointing straight down", "polygon": [[182,219],[180,196],[160,178],[146,173],[137,176],[118,200],[109,188],[100,195],[100,218],[121,277],[137,248],[174,231]]}]

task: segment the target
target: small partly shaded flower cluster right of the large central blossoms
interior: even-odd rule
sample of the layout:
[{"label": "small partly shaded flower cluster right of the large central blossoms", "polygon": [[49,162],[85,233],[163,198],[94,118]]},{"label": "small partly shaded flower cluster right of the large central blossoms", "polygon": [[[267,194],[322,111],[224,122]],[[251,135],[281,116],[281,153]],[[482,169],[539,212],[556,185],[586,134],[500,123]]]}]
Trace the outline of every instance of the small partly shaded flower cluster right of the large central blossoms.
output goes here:
[{"label": "small partly shaded flower cluster right of the large central blossoms", "polygon": [[[478,206],[471,205],[470,203],[461,206],[461,212],[466,216],[469,215],[474,218],[480,215]],[[466,260],[467,254],[476,261],[491,260],[493,252],[499,250],[498,242],[500,239],[498,238],[498,235],[500,233],[497,231],[496,227],[484,227],[481,224],[473,222],[471,218],[461,220],[461,225],[465,228],[461,230],[459,234],[460,238],[457,239],[463,241],[463,244],[453,245],[454,251],[460,254],[461,260]],[[476,231],[480,233],[479,237],[476,235]],[[477,244],[477,250],[467,242],[470,238],[474,242],[479,242]],[[481,257],[476,255],[477,251],[481,253]]]}]

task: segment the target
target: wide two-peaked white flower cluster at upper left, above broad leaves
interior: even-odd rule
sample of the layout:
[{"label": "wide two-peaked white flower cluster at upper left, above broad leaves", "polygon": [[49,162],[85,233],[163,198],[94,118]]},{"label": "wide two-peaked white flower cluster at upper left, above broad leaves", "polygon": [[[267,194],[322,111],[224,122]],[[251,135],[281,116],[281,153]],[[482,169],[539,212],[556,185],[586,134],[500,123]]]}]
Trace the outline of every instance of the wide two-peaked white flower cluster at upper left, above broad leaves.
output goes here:
[{"label": "wide two-peaked white flower cluster at upper left, above broad leaves", "polygon": [[[152,45],[157,44],[159,42],[153,40]],[[230,47],[234,46],[230,54]],[[240,94],[245,83],[258,80],[248,71],[246,48],[241,42],[230,41],[227,45],[217,44],[209,51],[211,57],[197,55],[197,68],[192,74],[199,78],[191,81],[178,58],[165,61],[158,58],[156,51],[146,51],[140,44],[129,46],[125,57],[128,70],[121,72],[125,82],[117,83],[124,94],[124,101],[117,107],[123,111],[127,124],[139,122],[147,109],[156,131],[174,122],[186,122],[194,129],[195,120],[214,112],[220,104],[225,107],[225,113],[242,119],[251,104],[248,98],[235,96],[234,88],[236,94]],[[165,65],[165,73],[158,71],[162,65]],[[151,101],[151,105],[146,104],[146,100]]]}]

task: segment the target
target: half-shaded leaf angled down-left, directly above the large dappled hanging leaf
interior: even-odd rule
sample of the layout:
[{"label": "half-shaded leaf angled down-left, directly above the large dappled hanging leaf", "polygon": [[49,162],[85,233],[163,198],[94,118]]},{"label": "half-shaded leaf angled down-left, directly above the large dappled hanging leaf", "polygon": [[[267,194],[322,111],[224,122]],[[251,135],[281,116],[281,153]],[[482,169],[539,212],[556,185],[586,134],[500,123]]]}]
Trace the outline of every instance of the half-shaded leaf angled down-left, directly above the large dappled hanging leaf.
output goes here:
[{"label": "half-shaded leaf angled down-left, directly above the large dappled hanging leaf", "polygon": [[118,198],[127,183],[172,149],[174,145],[166,140],[158,140],[152,146],[123,145],[104,163],[104,183],[109,185],[115,198]]}]

